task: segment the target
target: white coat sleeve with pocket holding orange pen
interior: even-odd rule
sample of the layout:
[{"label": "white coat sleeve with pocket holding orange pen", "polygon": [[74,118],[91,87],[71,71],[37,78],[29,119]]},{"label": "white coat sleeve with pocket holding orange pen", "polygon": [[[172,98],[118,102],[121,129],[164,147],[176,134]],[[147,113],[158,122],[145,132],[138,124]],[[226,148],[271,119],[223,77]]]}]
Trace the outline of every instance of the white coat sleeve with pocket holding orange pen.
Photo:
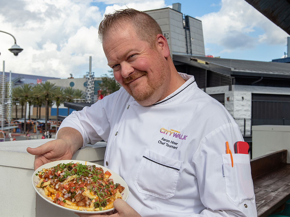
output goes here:
[{"label": "white coat sleeve with pocket holding orange pen", "polygon": [[[233,156],[226,154],[226,141]],[[243,141],[236,123],[227,123],[206,135],[193,156],[201,202],[207,209],[196,216],[257,216],[249,155],[234,154]]]}]

